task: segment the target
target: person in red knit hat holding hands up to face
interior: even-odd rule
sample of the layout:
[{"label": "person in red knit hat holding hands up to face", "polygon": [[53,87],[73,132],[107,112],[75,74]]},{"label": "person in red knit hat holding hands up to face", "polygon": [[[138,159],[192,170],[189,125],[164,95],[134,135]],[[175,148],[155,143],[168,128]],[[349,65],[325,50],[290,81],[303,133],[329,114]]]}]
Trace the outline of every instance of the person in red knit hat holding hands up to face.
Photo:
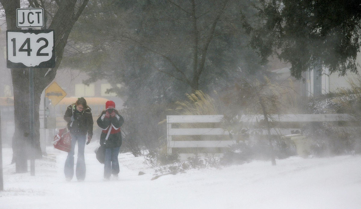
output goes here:
[{"label": "person in red knit hat holding hands up to face", "polygon": [[115,109],[115,103],[107,101],[105,110],[101,112],[96,122],[103,129],[100,134],[100,146],[105,147],[104,180],[109,180],[111,175],[117,179],[119,173],[118,154],[122,145],[120,127],[123,125],[124,119]]}]

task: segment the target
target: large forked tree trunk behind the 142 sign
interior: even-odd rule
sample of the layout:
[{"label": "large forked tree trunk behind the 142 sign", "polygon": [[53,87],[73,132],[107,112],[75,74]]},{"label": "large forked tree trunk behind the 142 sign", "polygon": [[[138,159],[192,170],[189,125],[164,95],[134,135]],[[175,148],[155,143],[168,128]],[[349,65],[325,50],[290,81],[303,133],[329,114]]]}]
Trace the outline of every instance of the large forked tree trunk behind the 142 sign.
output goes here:
[{"label": "large forked tree trunk behind the 142 sign", "polygon": [[[16,27],[16,9],[20,8],[19,0],[0,0],[4,6],[6,16],[6,27],[18,29]],[[16,173],[27,172],[27,159],[34,155],[35,159],[42,156],[40,149],[40,121],[39,106],[40,97],[46,86],[55,78],[56,71],[62,60],[65,45],[67,43],[71,29],[79,16],[83,12],[88,0],[79,1],[80,6],[75,6],[77,0],[58,1],[58,10],[53,16],[49,29],[55,30],[55,67],[48,71],[47,68],[34,69],[34,141],[30,136],[30,89],[29,89],[29,69],[11,69],[11,76],[14,90],[14,123],[15,132],[13,135],[13,159]],[[77,11],[75,11],[76,9]],[[44,8],[46,11],[46,9]],[[47,12],[45,12],[47,13]]]}]

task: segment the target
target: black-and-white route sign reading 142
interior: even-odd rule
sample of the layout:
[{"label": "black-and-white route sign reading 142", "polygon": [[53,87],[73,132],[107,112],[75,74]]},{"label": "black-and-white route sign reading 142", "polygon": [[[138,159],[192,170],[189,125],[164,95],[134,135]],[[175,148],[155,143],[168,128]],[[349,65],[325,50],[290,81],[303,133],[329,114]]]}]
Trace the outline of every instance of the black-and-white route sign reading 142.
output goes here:
[{"label": "black-and-white route sign reading 142", "polygon": [[7,68],[55,67],[54,30],[7,30]]}]

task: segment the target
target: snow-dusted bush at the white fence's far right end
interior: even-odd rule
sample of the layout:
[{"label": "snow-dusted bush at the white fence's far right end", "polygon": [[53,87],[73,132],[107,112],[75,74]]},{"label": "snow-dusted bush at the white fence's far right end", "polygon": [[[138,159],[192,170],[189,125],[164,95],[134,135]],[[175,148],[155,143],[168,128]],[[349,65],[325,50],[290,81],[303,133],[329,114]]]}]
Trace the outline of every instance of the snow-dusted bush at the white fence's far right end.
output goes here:
[{"label": "snow-dusted bush at the white fence's far right end", "polygon": [[[311,141],[311,154],[330,156],[361,153],[361,84],[349,81],[351,89],[339,89],[312,98],[308,104],[308,114],[350,114],[353,121],[332,123],[310,123],[303,127],[302,134]],[[342,123],[342,124],[341,124]],[[353,128],[343,128],[352,126]]]}]

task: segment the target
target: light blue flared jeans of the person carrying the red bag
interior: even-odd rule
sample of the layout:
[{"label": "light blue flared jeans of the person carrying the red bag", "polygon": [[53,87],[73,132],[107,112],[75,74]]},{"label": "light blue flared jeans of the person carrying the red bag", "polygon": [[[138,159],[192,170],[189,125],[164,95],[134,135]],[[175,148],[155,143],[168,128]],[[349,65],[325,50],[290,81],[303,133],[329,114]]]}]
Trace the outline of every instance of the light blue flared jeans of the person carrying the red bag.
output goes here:
[{"label": "light blue flared jeans of the person carrying the red bag", "polygon": [[74,175],[74,150],[75,143],[78,142],[78,160],[77,160],[77,168],[75,170],[75,174],[79,181],[83,181],[85,179],[85,159],[84,159],[84,148],[85,148],[85,138],[86,135],[71,135],[71,148],[68,153],[68,157],[65,160],[64,173],[65,178],[73,178]]}]

